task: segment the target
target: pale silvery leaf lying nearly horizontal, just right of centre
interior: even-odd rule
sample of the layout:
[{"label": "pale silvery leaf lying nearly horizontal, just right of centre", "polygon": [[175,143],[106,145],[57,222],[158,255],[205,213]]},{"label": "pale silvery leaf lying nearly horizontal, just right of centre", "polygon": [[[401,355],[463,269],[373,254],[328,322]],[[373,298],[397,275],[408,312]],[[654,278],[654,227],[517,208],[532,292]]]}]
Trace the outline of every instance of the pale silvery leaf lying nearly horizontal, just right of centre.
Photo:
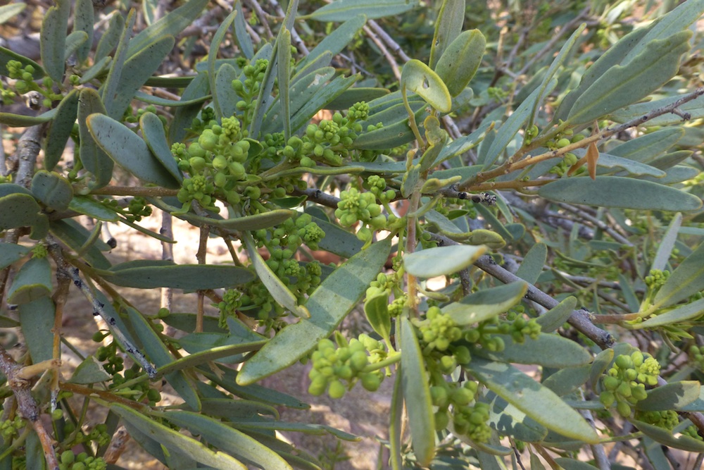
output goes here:
[{"label": "pale silvery leaf lying nearly horizontal, just right of centre", "polygon": [[482,245],[451,245],[423,249],[420,252],[405,254],[403,266],[408,273],[418,278],[434,278],[454,274],[471,266],[484,252],[486,247]]}]

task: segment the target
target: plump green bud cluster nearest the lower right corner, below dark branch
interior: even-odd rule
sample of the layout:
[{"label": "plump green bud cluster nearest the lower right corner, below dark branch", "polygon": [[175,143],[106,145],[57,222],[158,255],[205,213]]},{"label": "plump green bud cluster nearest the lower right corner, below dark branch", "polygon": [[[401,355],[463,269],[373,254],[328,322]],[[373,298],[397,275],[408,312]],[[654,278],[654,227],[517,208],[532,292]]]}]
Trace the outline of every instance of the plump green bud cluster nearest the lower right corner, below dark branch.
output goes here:
[{"label": "plump green bud cluster nearest the lower right corner, below dark branch", "polygon": [[658,384],[660,364],[650,354],[634,351],[620,354],[601,380],[603,391],[599,400],[605,407],[616,404],[621,416],[631,415],[631,407],[648,397],[646,385]]}]

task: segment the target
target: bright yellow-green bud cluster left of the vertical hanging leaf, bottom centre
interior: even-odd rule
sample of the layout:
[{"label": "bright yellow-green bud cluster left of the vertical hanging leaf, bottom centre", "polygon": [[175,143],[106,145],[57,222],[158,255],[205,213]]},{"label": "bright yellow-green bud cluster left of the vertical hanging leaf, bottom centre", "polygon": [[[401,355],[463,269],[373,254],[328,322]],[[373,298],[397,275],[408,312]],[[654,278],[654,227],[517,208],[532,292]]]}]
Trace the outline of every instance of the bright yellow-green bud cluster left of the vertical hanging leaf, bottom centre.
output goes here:
[{"label": "bright yellow-green bud cluster left of the vertical hanging leaf, bottom centre", "polygon": [[384,373],[374,364],[386,358],[384,343],[362,334],[349,342],[335,335],[335,342],[320,340],[318,349],[310,356],[313,369],[308,378],[310,395],[322,395],[325,390],[331,398],[341,398],[359,381],[370,392],[375,392],[384,380]]}]

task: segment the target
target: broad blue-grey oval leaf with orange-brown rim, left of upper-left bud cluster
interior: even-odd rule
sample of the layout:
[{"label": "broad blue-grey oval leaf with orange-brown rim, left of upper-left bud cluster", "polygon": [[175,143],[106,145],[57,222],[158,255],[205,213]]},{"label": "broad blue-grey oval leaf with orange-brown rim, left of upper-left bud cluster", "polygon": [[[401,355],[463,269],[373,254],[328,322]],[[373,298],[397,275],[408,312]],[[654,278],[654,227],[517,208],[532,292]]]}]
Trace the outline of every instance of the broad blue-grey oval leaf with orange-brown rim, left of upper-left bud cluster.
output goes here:
[{"label": "broad blue-grey oval leaf with orange-brown rim, left of upper-left bud cluster", "polygon": [[91,114],[88,129],[94,140],[116,163],[146,183],[175,189],[180,184],[149,151],[146,142],[117,120]]}]

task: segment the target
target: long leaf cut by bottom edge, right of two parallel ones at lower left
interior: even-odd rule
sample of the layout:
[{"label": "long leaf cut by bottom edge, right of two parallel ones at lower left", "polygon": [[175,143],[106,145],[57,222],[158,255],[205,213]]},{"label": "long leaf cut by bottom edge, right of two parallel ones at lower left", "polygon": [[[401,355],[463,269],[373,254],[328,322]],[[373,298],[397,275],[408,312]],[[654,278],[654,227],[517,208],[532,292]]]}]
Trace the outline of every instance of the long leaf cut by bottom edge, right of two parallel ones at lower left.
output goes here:
[{"label": "long leaf cut by bottom edge, right of two parallel ones at lower left", "polygon": [[274,450],[218,420],[203,414],[179,411],[167,412],[165,417],[176,426],[187,429],[194,435],[201,435],[208,444],[240,457],[245,462],[253,462],[267,470],[292,469]]}]

